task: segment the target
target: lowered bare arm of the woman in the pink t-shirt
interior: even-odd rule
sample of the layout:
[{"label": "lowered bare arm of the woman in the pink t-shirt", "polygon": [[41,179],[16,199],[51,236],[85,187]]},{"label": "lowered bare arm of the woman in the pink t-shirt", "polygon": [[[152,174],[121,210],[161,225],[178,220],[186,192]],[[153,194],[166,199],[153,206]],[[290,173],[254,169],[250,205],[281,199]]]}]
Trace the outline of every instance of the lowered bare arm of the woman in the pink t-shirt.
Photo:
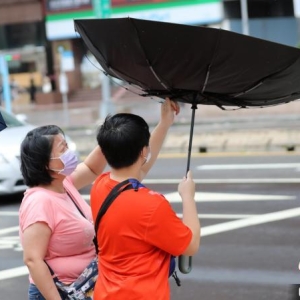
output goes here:
[{"label": "lowered bare arm of the woman in the pink t-shirt", "polygon": [[44,262],[50,236],[51,230],[45,223],[35,223],[26,228],[23,233],[23,260],[44,298],[61,300],[49,268]]}]

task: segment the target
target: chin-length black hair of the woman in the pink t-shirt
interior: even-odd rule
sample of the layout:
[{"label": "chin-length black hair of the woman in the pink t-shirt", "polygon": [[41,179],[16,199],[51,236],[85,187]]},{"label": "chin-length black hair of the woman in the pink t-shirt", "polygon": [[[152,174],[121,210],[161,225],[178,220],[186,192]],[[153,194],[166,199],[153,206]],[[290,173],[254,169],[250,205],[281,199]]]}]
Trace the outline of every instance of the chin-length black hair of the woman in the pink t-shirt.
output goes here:
[{"label": "chin-length black hair of the woman in the pink t-shirt", "polygon": [[29,131],[21,144],[21,173],[29,187],[50,184],[49,161],[54,136],[64,135],[56,125],[37,127]]}]

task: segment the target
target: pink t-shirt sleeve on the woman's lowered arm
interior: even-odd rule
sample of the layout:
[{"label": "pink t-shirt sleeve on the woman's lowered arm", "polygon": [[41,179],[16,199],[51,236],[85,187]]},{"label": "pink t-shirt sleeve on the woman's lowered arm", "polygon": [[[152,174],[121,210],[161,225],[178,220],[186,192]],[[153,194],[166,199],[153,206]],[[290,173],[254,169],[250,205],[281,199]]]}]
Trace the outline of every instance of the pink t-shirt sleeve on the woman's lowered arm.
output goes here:
[{"label": "pink t-shirt sleeve on the woman's lowered arm", "polygon": [[24,231],[30,225],[43,222],[46,223],[51,231],[55,227],[55,217],[53,214],[53,203],[45,195],[36,193],[26,199],[26,204],[20,212],[20,227]]}]

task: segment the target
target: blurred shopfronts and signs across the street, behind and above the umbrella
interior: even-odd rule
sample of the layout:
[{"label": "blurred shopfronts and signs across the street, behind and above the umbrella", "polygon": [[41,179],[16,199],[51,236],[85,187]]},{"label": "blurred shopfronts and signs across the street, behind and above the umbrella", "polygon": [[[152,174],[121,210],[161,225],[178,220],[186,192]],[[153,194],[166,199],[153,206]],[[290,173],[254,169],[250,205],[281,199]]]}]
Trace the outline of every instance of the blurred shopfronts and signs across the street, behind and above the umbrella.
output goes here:
[{"label": "blurred shopfronts and signs across the street, behind and above the umbrella", "polygon": [[101,71],[73,20],[126,16],[223,28],[292,47],[300,42],[298,0],[0,0],[1,74],[7,68],[10,87],[5,101],[7,83],[0,80],[2,106],[21,112],[29,103],[62,103],[64,92],[69,103],[101,100]]}]

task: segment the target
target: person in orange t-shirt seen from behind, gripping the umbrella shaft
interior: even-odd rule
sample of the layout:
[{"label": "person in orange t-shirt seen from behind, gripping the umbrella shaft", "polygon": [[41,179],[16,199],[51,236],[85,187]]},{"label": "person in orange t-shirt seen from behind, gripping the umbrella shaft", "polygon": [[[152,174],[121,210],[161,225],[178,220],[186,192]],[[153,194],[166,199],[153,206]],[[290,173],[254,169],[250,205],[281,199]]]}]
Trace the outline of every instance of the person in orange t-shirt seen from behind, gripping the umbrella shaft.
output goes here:
[{"label": "person in orange t-shirt seen from behind, gripping the umbrella shaft", "polygon": [[171,255],[190,256],[198,251],[200,222],[191,173],[178,186],[183,220],[164,196],[140,184],[178,112],[178,105],[166,99],[151,137],[144,119],[133,114],[108,116],[99,129],[98,144],[111,171],[98,177],[91,190],[94,221],[119,182],[130,179],[134,189],[123,191],[100,221],[94,300],[167,300]]}]

